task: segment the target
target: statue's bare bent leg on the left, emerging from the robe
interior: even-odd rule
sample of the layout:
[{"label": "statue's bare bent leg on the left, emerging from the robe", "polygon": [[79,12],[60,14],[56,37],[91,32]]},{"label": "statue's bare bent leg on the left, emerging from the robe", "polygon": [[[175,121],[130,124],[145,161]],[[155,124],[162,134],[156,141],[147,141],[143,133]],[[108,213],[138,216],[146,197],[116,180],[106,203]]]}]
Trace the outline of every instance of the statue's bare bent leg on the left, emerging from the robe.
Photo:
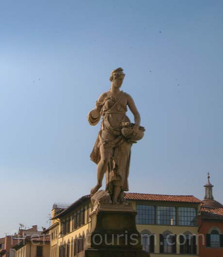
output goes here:
[{"label": "statue's bare bent leg on the left, emerging from the robe", "polygon": [[92,196],[102,186],[102,181],[103,181],[103,178],[104,178],[104,174],[106,172],[107,165],[108,165],[110,157],[111,157],[111,151],[110,151],[109,148],[104,148],[104,146],[101,145],[100,146],[100,155],[101,155],[101,159],[100,159],[99,163],[97,164],[97,184],[91,190],[91,195]]}]

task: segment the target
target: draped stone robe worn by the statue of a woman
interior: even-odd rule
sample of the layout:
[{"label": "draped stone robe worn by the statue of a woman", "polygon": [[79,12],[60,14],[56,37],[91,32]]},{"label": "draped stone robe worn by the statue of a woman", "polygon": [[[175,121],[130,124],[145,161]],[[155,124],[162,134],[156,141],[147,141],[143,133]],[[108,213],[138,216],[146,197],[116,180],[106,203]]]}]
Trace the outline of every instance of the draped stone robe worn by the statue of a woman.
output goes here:
[{"label": "draped stone robe worn by the statue of a woman", "polygon": [[[100,111],[102,122],[90,157],[98,164],[101,158],[100,146],[103,145],[104,149],[110,151],[111,158],[106,170],[106,190],[111,195],[114,185],[120,186],[122,192],[128,191],[131,143],[121,134],[121,123],[130,122],[126,116],[127,106],[123,101],[124,97],[125,93],[121,91],[117,99],[108,96],[103,102],[96,102],[96,109]],[[100,121],[100,116],[93,118],[90,112],[88,120],[92,125],[96,125]]]}]

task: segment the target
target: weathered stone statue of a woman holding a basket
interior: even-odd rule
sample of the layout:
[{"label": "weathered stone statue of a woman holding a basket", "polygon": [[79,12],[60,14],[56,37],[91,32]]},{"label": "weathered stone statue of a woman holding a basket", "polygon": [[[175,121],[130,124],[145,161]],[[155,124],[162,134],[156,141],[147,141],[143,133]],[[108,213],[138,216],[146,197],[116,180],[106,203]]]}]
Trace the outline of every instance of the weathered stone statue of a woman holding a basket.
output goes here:
[{"label": "weathered stone statue of a woman holding a basket", "polygon": [[[124,77],[122,68],[112,71],[111,89],[99,96],[95,108],[88,114],[88,121],[93,126],[102,116],[101,129],[90,155],[97,164],[97,184],[91,190],[91,196],[102,186],[106,174],[106,191],[113,204],[124,202],[124,192],[128,191],[131,146],[143,137],[145,131],[140,126],[140,114],[132,97],[120,91]],[[127,106],[135,123],[130,123],[126,116]]]}]

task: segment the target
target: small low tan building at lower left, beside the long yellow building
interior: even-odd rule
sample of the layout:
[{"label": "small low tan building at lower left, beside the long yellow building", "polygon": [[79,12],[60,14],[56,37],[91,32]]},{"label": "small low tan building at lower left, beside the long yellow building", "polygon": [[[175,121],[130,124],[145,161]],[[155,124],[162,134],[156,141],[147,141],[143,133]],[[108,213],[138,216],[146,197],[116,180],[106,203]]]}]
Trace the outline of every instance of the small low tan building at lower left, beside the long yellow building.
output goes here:
[{"label": "small low tan building at lower left, beside the long yellow building", "polygon": [[27,237],[12,247],[15,257],[49,257],[49,236]]}]

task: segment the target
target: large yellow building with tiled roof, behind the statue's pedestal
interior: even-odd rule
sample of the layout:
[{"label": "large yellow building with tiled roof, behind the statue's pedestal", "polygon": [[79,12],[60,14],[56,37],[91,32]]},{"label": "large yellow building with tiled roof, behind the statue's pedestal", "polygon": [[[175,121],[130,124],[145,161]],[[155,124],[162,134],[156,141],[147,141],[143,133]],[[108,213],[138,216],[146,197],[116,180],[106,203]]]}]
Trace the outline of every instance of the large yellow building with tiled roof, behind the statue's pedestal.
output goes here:
[{"label": "large yellow building with tiled roof, behind the statue's pedestal", "polygon": [[[199,254],[198,214],[201,201],[193,196],[127,193],[126,200],[138,212],[137,229],[143,249],[151,257]],[[50,257],[82,256],[91,228],[90,196],[83,196],[66,209],[54,205],[52,225],[44,232],[51,237]],[[168,243],[170,242],[170,243]]]}]

